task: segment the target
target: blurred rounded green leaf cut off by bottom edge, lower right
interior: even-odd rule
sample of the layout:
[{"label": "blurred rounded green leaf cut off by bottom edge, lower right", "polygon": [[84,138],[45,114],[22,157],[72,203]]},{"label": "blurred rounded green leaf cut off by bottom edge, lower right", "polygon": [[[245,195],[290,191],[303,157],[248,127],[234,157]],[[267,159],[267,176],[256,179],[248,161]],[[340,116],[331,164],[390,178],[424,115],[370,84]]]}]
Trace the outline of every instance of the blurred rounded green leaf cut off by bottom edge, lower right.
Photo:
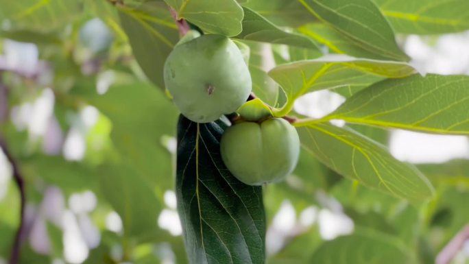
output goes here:
[{"label": "blurred rounded green leaf cut off by bottom edge, lower right", "polygon": [[365,229],[322,244],[311,260],[321,264],[417,263],[415,256],[401,241],[381,232]]}]

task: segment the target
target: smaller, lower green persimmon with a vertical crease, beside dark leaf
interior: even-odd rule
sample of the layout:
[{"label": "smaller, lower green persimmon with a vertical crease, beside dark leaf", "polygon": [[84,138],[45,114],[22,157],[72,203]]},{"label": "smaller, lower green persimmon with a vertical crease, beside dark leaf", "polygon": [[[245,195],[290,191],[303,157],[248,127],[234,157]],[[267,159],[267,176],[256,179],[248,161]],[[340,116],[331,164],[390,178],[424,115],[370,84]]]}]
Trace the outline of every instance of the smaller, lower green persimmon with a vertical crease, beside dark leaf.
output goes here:
[{"label": "smaller, lower green persimmon with a vertical crease, beside dark leaf", "polygon": [[298,163],[300,139],[285,119],[241,122],[228,128],[220,141],[221,158],[241,182],[262,185],[288,176]]}]

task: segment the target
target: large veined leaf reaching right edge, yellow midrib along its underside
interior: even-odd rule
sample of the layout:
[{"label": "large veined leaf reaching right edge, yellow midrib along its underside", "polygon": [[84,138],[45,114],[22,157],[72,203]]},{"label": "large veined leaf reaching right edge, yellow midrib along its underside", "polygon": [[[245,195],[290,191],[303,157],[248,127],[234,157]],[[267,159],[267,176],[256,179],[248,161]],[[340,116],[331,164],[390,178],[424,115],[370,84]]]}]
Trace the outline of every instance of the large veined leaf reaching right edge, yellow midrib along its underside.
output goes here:
[{"label": "large veined leaf reaching right edge, yellow midrib along its underside", "polygon": [[325,119],[407,130],[469,134],[469,77],[412,75],[357,93]]}]

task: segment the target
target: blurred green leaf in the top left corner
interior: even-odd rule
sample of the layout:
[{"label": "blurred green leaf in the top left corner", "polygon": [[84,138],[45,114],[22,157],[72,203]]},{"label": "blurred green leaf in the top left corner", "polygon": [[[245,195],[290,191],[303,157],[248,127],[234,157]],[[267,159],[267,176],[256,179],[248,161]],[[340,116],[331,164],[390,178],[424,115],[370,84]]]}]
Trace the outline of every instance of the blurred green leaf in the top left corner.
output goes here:
[{"label": "blurred green leaf in the top left corner", "polygon": [[8,20],[10,29],[51,32],[82,14],[79,1],[0,0],[0,21]]}]

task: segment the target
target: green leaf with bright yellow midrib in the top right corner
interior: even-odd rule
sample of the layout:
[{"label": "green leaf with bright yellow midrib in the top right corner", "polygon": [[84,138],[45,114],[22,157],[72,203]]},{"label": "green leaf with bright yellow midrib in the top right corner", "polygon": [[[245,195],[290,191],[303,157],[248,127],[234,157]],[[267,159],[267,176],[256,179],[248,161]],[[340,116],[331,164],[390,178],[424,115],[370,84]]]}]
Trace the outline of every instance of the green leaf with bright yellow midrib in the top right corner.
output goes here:
[{"label": "green leaf with bright yellow midrib in the top right corner", "polygon": [[443,34],[469,29],[466,0],[374,0],[396,32]]}]

